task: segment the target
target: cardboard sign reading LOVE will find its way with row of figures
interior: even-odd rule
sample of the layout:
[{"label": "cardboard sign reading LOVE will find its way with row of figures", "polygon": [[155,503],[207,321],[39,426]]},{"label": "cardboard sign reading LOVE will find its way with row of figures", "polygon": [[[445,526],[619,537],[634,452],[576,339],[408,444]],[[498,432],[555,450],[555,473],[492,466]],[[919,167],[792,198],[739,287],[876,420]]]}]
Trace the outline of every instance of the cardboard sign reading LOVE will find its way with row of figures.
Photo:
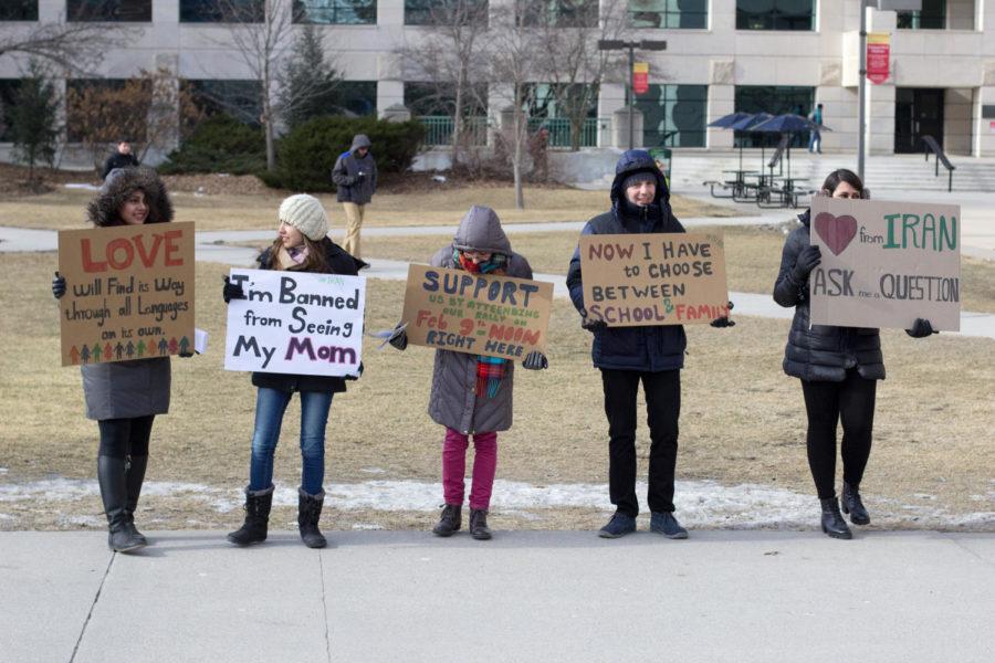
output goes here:
[{"label": "cardboard sign reading LOVE will find its way with row of figures", "polygon": [[59,232],[62,365],[193,351],[193,223]]}]

